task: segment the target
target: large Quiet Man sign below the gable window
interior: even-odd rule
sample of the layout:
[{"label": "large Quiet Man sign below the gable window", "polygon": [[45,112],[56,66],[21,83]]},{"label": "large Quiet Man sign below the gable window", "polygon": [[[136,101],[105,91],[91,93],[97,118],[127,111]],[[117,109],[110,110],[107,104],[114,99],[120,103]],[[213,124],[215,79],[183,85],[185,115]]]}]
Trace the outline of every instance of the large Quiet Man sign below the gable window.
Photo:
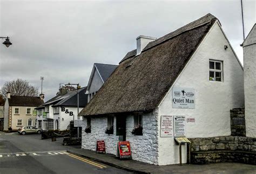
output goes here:
[{"label": "large Quiet Man sign below the gable window", "polygon": [[194,109],[194,89],[193,88],[172,88],[172,107],[183,109]]}]

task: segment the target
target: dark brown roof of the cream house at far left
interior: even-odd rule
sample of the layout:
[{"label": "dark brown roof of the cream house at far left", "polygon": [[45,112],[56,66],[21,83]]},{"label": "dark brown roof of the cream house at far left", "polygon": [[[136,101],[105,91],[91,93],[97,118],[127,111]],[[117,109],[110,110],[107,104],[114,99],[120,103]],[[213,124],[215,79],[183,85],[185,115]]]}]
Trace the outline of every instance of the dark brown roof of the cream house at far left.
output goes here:
[{"label": "dark brown roof of the cream house at far left", "polygon": [[9,106],[39,106],[44,103],[39,96],[17,96],[11,95],[8,99]]}]

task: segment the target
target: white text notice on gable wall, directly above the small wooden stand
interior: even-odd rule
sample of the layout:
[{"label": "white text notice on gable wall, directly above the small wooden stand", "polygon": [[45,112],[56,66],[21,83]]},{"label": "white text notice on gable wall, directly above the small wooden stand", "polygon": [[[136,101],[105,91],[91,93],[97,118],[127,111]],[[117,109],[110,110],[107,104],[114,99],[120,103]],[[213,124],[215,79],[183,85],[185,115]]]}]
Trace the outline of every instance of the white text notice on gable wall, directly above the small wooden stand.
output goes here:
[{"label": "white text notice on gable wall, directly above the small wooden stand", "polygon": [[185,116],[173,116],[174,137],[184,137],[186,134],[186,118]]}]

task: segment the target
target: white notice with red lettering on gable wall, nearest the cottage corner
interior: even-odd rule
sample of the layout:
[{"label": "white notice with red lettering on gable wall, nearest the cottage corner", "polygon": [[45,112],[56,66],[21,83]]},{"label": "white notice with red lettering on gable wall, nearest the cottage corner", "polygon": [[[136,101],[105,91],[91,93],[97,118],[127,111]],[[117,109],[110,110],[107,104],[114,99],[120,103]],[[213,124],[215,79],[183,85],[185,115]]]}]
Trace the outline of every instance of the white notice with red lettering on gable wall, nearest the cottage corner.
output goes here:
[{"label": "white notice with red lettering on gable wall, nearest the cottage corner", "polygon": [[161,131],[160,137],[172,137],[173,136],[173,116],[161,115]]}]

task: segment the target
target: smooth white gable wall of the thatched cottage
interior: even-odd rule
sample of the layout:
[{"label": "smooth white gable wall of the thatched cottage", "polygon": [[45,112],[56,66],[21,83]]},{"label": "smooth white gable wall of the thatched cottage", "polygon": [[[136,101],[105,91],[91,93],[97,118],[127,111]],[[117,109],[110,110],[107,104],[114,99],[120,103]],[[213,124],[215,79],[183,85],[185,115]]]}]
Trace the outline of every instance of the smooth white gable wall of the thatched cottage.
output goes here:
[{"label": "smooth white gable wall of the thatched cottage", "polygon": [[[224,45],[228,46],[227,50]],[[223,82],[209,81],[209,59],[223,61]],[[243,75],[237,57],[215,22],[173,85],[194,88],[195,109],[172,108],[171,88],[159,105],[159,130],[161,115],[185,115],[196,119],[195,123],[186,124],[186,137],[231,135],[230,109],[244,107]],[[159,165],[178,164],[179,146],[173,137],[160,137],[159,132],[158,138]],[[186,163],[185,145],[182,151],[182,162]]]}]

